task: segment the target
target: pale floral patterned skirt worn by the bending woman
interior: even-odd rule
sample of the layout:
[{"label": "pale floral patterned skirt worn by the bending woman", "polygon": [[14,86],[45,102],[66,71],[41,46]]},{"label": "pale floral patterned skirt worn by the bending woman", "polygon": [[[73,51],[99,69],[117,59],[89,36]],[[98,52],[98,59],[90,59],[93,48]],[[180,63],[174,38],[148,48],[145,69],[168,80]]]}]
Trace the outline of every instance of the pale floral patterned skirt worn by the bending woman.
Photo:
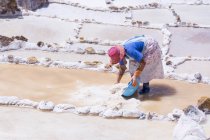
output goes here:
[{"label": "pale floral patterned skirt worn by the bending woman", "polygon": [[[158,42],[153,38],[146,38],[143,58],[146,62],[144,70],[137,80],[141,83],[147,83],[152,79],[162,79],[164,77],[161,61],[161,49]],[[138,68],[139,63],[135,60],[129,60],[129,72],[131,76]]]}]

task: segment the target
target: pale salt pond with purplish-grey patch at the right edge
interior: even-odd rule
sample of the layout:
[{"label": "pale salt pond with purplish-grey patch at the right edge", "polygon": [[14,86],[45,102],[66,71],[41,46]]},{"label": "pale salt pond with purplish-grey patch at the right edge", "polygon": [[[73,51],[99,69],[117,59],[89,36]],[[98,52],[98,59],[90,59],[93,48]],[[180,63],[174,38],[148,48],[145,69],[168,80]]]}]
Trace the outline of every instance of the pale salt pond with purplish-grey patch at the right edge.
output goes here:
[{"label": "pale salt pond with purplish-grey patch at the right edge", "polygon": [[210,57],[210,29],[169,28],[172,33],[169,54],[177,57]]}]

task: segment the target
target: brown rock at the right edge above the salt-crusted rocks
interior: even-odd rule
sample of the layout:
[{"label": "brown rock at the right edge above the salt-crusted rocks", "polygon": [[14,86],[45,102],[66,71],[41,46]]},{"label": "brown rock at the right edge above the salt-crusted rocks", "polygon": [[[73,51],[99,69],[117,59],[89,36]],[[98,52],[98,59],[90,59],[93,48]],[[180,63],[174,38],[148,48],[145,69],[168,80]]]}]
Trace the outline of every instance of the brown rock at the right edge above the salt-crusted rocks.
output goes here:
[{"label": "brown rock at the right edge above the salt-crusted rocks", "polygon": [[204,112],[210,112],[210,98],[208,97],[201,97],[198,100],[198,108]]}]

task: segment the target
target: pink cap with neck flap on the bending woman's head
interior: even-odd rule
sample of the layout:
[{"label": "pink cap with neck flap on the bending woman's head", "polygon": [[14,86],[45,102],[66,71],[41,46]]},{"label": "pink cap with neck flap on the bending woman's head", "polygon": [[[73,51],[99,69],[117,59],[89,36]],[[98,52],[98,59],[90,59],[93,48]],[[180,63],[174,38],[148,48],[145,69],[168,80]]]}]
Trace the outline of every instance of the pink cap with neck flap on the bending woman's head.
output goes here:
[{"label": "pink cap with neck flap on the bending woman's head", "polygon": [[109,49],[108,55],[111,58],[110,62],[112,64],[117,64],[125,56],[125,50],[122,46],[113,46]]}]

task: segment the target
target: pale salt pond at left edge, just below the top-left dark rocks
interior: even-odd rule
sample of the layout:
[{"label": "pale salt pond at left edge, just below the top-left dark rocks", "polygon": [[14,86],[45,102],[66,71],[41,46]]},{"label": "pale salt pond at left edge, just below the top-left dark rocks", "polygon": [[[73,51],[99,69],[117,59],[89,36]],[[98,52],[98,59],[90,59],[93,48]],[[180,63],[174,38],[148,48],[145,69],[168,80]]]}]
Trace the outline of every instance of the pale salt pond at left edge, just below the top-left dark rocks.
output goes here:
[{"label": "pale salt pond at left edge, just below the top-left dark rocks", "polygon": [[[50,23],[50,24],[49,24]],[[77,23],[46,17],[24,16],[23,19],[0,19],[1,35],[23,35],[29,42],[63,43],[70,36],[75,36]]]}]

